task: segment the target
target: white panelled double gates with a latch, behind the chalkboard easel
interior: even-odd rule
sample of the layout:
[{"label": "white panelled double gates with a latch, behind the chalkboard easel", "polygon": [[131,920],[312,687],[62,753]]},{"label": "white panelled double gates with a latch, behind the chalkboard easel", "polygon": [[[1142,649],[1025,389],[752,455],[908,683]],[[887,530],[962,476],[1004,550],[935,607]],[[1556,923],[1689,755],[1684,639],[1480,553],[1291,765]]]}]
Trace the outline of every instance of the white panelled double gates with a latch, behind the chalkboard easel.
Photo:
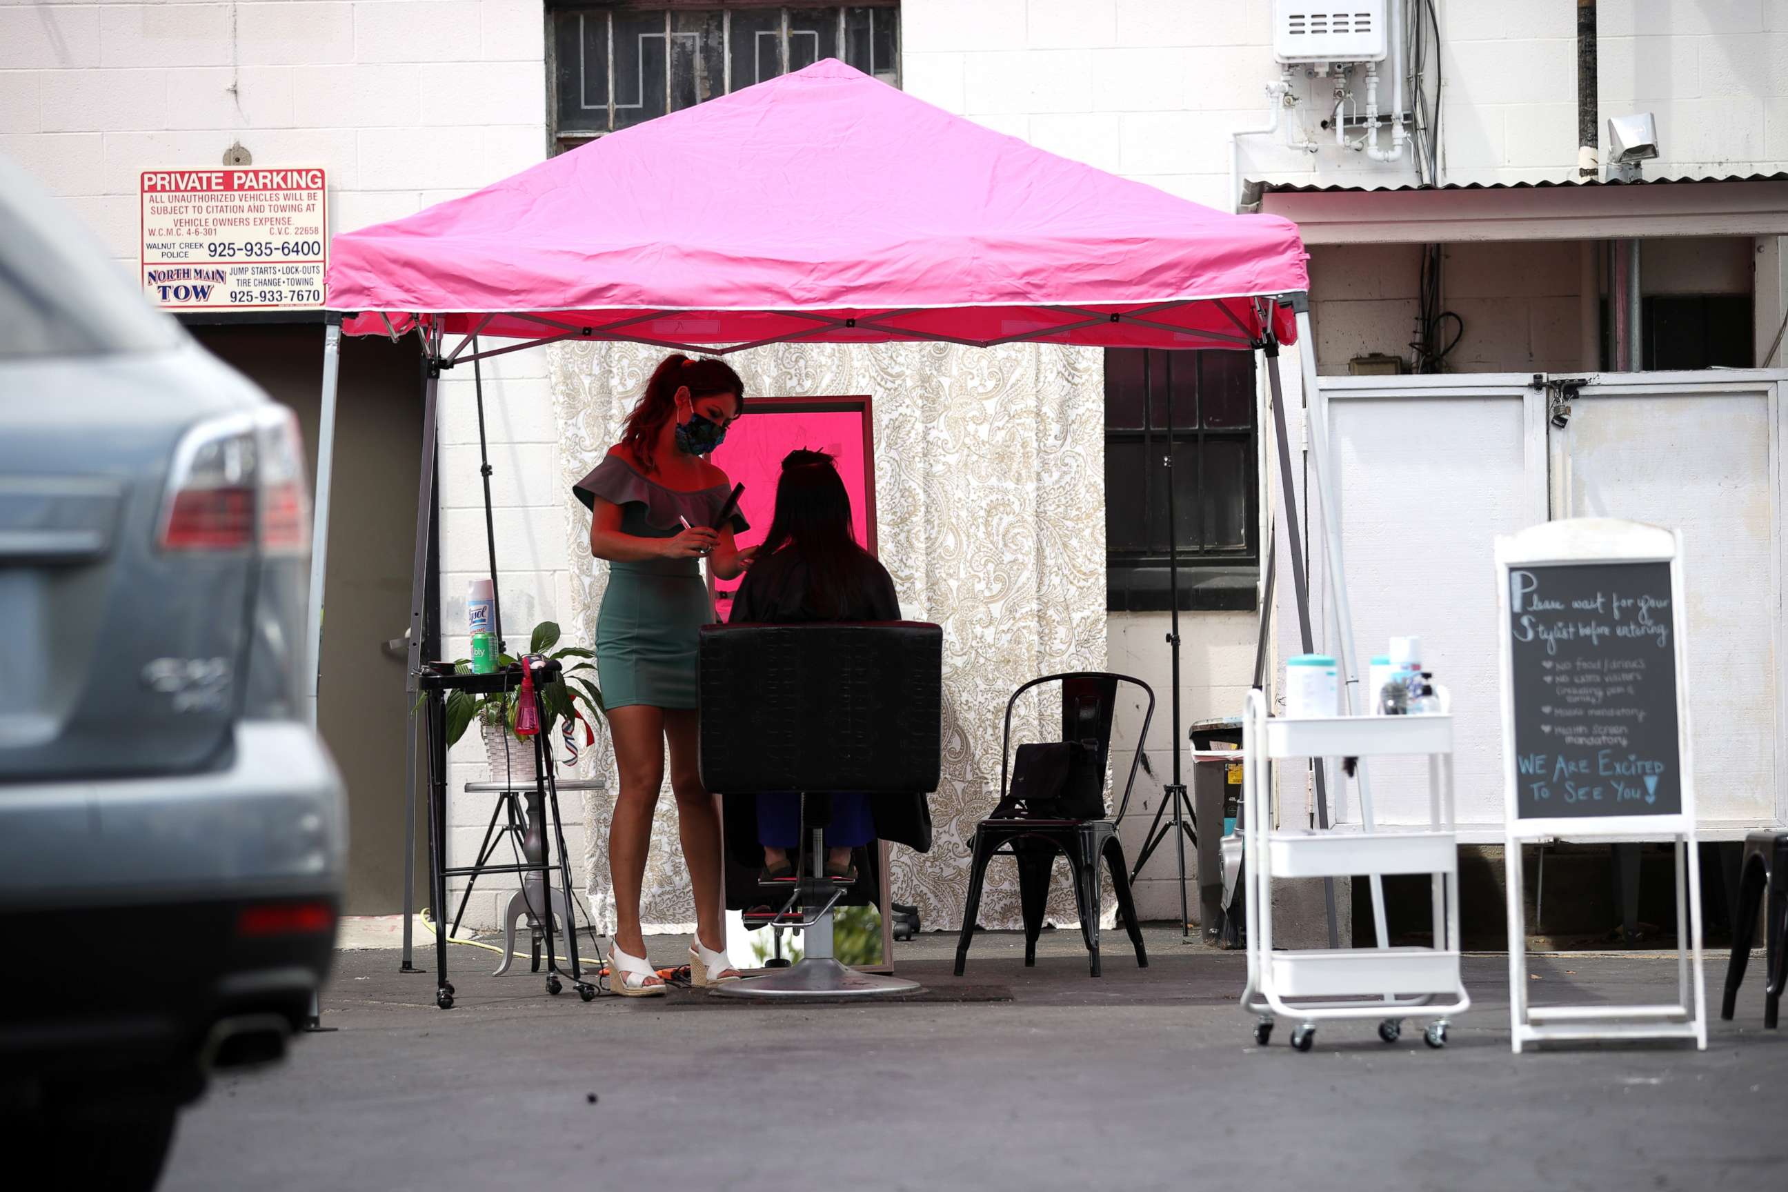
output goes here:
[{"label": "white panelled double gates with a latch, behind the chalkboard easel", "polygon": [[[1525,377],[1325,381],[1355,647],[1366,659],[1421,634],[1425,667],[1452,688],[1468,838],[1502,826],[1491,545],[1548,515],[1683,531],[1702,831],[1783,818],[1783,375],[1606,374],[1563,431]],[[1370,779],[1380,824],[1425,820],[1418,763],[1373,763]],[[1332,806],[1336,822],[1361,820],[1355,788]]]}]

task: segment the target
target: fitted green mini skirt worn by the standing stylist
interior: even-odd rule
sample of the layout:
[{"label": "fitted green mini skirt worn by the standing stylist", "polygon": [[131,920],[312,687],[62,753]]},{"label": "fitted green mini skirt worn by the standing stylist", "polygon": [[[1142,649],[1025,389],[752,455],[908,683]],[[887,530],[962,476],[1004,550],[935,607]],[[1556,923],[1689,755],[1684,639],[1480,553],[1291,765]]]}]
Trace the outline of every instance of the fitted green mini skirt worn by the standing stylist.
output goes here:
[{"label": "fitted green mini skirt worn by the standing stylist", "polygon": [[696,708],[696,652],[713,620],[694,559],[610,563],[595,622],[595,670],[608,708]]}]

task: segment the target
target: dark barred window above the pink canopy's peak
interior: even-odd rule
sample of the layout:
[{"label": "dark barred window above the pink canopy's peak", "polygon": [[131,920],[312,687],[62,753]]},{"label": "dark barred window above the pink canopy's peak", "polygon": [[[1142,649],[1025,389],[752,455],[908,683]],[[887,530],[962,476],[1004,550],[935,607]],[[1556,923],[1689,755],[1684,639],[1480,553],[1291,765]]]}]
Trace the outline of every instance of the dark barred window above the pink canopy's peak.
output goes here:
[{"label": "dark barred window above the pink canopy's peak", "polygon": [[899,86],[899,5],[563,0],[549,111],[560,150],[837,57]]}]

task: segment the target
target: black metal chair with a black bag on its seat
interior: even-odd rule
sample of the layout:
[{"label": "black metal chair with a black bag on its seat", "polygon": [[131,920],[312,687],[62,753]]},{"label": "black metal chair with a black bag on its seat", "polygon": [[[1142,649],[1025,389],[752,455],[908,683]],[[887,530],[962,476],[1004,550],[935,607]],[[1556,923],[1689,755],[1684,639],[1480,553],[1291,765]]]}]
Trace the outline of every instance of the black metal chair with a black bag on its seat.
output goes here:
[{"label": "black metal chair with a black bag on its seat", "polygon": [[1044,683],[1062,684],[1062,740],[1078,742],[1091,756],[1087,768],[1096,774],[1100,793],[1103,795],[1105,767],[1110,758],[1112,715],[1118,704],[1118,688],[1123,683],[1143,688],[1148,695],[1148,708],[1143,713],[1143,729],[1137,733],[1135,756],[1130,760],[1130,776],[1125,781],[1123,801],[1118,815],[1105,818],[985,818],[974,827],[969,842],[974,860],[969,867],[969,897],[962,908],[962,935],[957,940],[957,976],[962,976],[969,961],[969,944],[974,938],[974,920],[982,908],[982,885],[987,881],[987,861],[994,856],[1012,856],[1017,861],[1019,904],[1025,913],[1025,967],[1037,963],[1037,936],[1042,933],[1044,906],[1050,901],[1050,874],[1055,869],[1057,854],[1067,858],[1067,869],[1075,883],[1075,906],[1080,911],[1080,933],[1087,942],[1089,965],[1092,976],[1100,976],[1100,861],[1110,869],[1112,892],[1118,895],[1118,917],[1130,933],[1135,945],[1135,963],[1148,967],[1148,953],[1143,947],[1143,926],[1135,917],[1135,901],[1130,897],[1130,870],[1125,865],[1123,845],[1118,842],[1118,824],[1130,810],[1130,790],[1135,786],[1135,772],[1143,761],[1143,742],[1148,740],[1148,724],[1155,715],[1155,692],[1141,679],[1110,674],[1105,670],[1075,670],[1067,674],[1042,676],[1032,679],[1012,692],[1007,701],[1005,736],[999,747],[999,808],[1007,806],[1010,760],[1012,760],[1012,708],[1019,697]]}]

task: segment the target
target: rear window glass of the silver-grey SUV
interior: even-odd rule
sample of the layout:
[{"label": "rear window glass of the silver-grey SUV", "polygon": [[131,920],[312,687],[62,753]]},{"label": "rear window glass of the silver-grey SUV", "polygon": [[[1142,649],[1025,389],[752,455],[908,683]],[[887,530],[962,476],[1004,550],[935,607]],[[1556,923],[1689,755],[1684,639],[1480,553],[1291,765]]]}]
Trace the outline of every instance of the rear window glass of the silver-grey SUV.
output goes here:
[{"label": "rear window glass of the silver-grey SUV", "polygon": [[73,214],[0,157],[0,359],[143,352],[179,334]]}]

